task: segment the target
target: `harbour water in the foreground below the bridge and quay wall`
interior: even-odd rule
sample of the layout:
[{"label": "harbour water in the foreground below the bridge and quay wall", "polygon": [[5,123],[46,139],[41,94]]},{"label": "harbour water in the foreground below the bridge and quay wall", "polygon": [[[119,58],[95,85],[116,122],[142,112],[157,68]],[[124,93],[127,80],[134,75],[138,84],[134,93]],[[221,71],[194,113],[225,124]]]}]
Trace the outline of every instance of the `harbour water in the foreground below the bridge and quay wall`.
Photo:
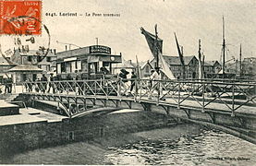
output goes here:
[{"label": "harbour water in the foreground below the bridge and quay wall", "polygon": [[[172,135],[170,130],[164,128],[140,132],[137,136],[143,135],[144,138],[135,142],[128,141],[131,139],[130,135],[134,135],[130,134],[34,149],[1,157],[0,161],[2,164],[165,164],[179,166],[240,166],[256,163],[256,145],[236,136],[220,131],[200,129],[199,132],[194,132],[197,133],[195,135],[187,135],[187,133],[183,136],[168,138]],[[172,132],[177,131],[172,130]],[[116,140],[121,143],[116,144]]]}]

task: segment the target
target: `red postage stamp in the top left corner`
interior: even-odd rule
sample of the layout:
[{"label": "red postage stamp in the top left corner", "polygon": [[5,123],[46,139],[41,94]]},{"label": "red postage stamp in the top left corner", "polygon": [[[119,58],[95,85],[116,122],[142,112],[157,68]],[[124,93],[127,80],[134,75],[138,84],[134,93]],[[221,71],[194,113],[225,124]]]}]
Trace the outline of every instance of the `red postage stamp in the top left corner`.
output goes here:
[{"label": "red postage stamp in the top left corner", "polygon": [[0,0],[0,35],[40,35],[41,0]]}]

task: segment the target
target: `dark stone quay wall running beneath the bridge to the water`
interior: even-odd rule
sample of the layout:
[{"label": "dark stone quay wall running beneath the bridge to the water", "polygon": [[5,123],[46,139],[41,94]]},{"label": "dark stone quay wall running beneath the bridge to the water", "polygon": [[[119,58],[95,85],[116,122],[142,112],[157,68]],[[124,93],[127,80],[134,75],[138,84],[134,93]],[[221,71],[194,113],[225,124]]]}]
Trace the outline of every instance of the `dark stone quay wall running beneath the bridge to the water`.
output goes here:
[{"label": "dark stone quay wall running beneath the bridge to the water", "polygon": [[65,119],[61,122],[1,125],[0,154],[86,141],[94,137],[118,136],[165,127],[173,122],[163,114],[136,111]]}]

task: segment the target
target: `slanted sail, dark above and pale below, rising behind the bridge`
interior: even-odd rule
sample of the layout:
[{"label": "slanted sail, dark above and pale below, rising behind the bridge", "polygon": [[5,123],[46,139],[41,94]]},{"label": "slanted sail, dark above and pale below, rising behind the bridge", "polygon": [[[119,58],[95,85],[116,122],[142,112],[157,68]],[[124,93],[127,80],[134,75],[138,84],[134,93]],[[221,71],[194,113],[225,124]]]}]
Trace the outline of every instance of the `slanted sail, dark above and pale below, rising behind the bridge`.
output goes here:
[{"label": "slanted sail, dark above and pale below, rising behind the bridge", "polygon": [[140,28],[140,30],[141,30],[141,33],[145,36],[146,41],[148,42],[148,45],[150,47],[153,57],[155,58],[158,55],[161,71],[169,79],[176,79],[173,75],[173,72],[170,70],[169,65],[166,63],[162,53],[163,40],[161,40],[160,38],[157,38],[157,43],[155,43],[155,39],[156,39],[155,35],[152,35],[152,33],[144,30],[143,28]]}]

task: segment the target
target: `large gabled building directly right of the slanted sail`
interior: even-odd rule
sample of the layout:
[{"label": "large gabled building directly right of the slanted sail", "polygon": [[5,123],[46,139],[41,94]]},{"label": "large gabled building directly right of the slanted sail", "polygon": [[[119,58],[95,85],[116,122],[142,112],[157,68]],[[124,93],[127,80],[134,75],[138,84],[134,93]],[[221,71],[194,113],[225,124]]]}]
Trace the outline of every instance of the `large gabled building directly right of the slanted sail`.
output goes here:
[{"label": "large gabled building directly right of the slanted sail", "polygon": [[[182,65],[180,63],[179,56],[168,56],[164,55],[166,63],[170,66],[174,77],[182,77]],[[199,61],[196,56],[184,56],[186,78],[198,78],[199,75]],[[152,64],[152,63],[151,63]],[[153,65],[154,66],[154,65]]]}]

